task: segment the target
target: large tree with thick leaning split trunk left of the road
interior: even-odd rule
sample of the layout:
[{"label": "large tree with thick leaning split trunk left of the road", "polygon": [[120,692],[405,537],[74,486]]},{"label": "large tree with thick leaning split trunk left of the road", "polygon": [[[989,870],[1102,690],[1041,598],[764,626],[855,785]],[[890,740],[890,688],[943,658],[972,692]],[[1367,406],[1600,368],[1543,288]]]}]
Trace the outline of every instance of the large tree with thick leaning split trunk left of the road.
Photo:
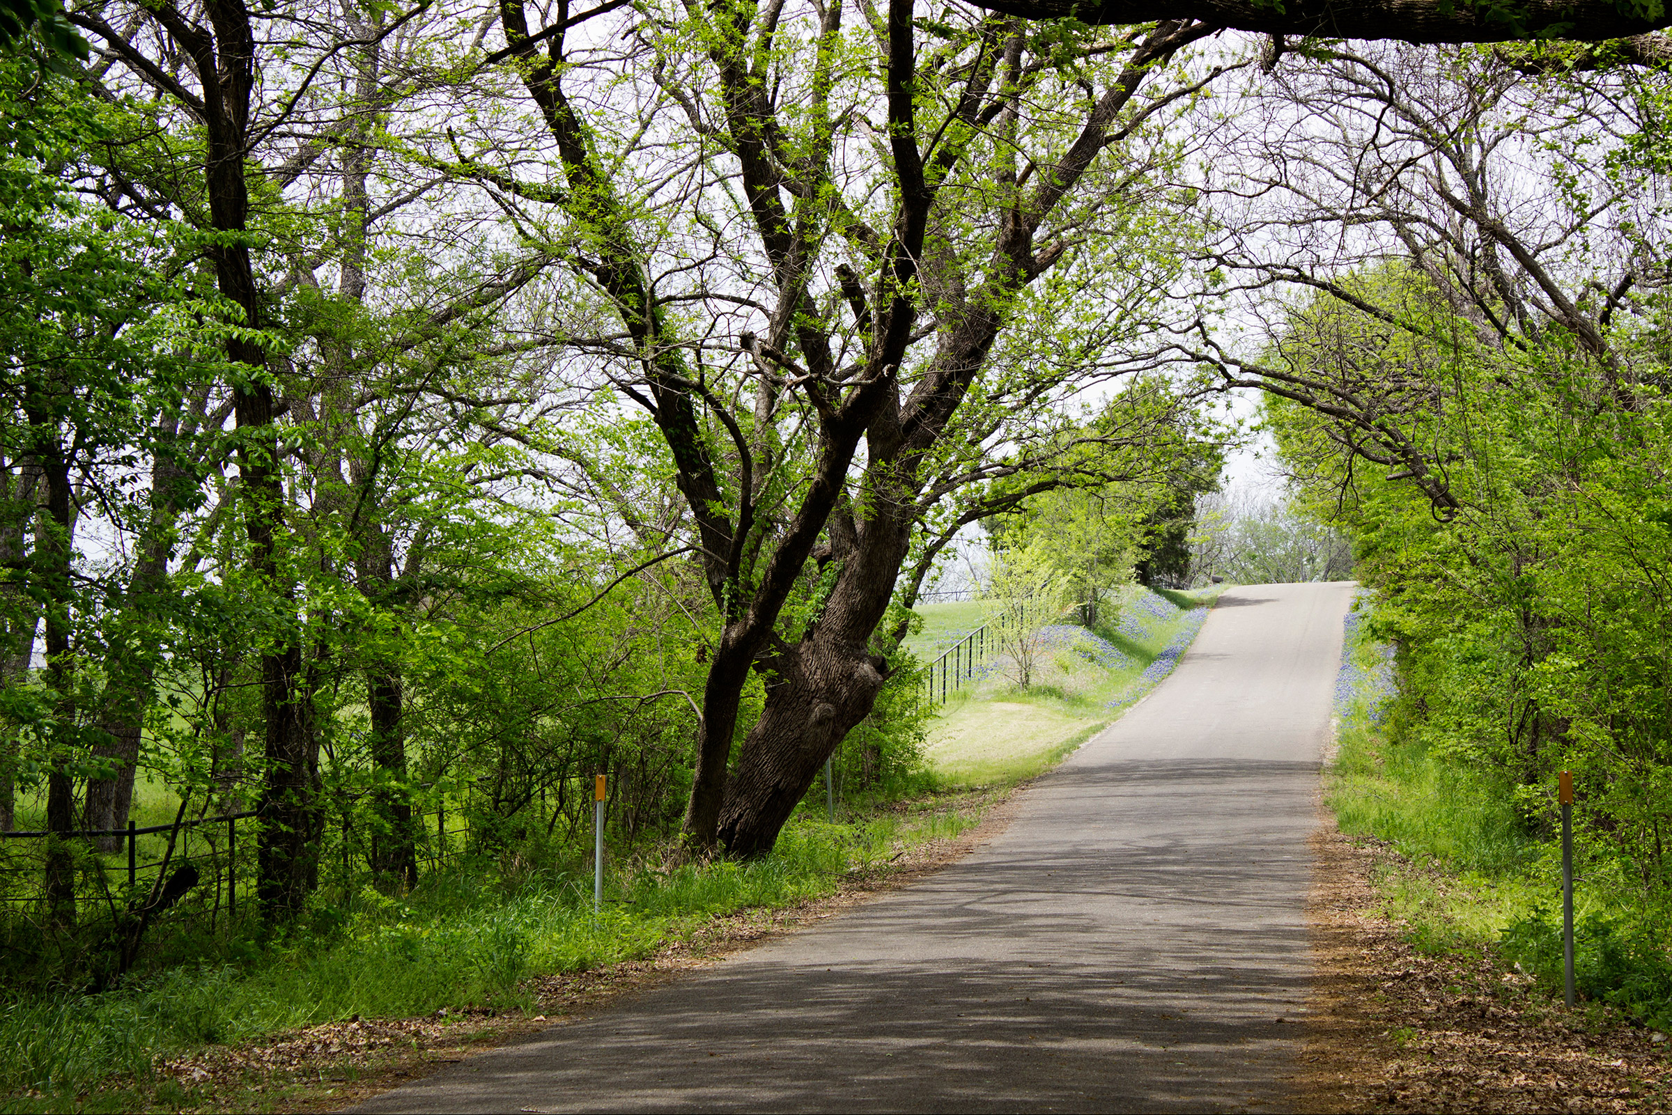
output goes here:
[{"label": "large tree with thick leaning split trunk left of the road", "polygon": [[[590,15],[572,22],[582,18]],[[1162,23],[1124,40],[1088,32],[1035,40],[993,17],[920,32],[901,0],[886,17],[866,13],[868,33],[844,42],[841,18],[834,5],[659,12],[629,32],[645,43],[644,62],[632,65],[657,74],[655,110],[635,104],[619,117],[630,129],[612,132],[607,112],[582,119],[575,109],[572,90],[590,64],[585,52],[567,53],[568,25],[533,30],[520,5],[502,3],[508,45],[500,53],[517,60],[563,174],[562,191],[515,192],[560,212],[563,231],[553,236],[589,246],[580,269],[629,343],[630,361],[614,379],[667,440],[724,620],[687,814],[699,849],[716,839],[739,854],[771,848],[888,677],[873,634],[916,525],[961,488],[1043,463],[1027,448],[1002,461],[983,456],[1005,441],[1033,443],[1023,431],[1035,405],[1114,374],[1097,341],[1139,328],[1167,266],[1160,241],[1150,252],[1129,249],[1139,264],[1132,286],[1105,293],[1092,328],[1058,343],[1060,358],[988,368],[1013,323],[1102,277],[1085,271],[1099,249],[1073,251],[1077,229],[1104,221],[1162,232],[1139,204],[1164,189],[1152,184],[1154,171],[1170,157],[1152,120],[1212,77],[1137,97],[1177,50],[1207,33],[1199,25]],[[1100,59],[1112,53],[1125,57],[1105,67]],[[881,89],[869,84],[871,67],[881,67]],[[1082,92],[1073,67],[1097,72],[1104,92]],[[794,94],[767,97],[779,75]],[[1073,112],[1035,114],[1042,102],[1030,97],[1047,87],[1060,89],[1058,104],[1072,102]],[[712,107],[704,89],[717,90]],[[834,115],[836,97],[886,109],[886,135],[859,112]],[[707,289],[732,288],[689,296],[719,303],[696,336],[681,328],[674,296],[652,269],[649,246],[667,242],[667,217],[632,202],[630,176],[644,172],[634,145],[669,112],[681,115],[679,149],[692,149],[691,167],[714,159],[736,167],[746,202],[737,217],[752,236],[716,241],[704,231],[711,202],[679,199],[679,212],[696,214],[689,232],[681,229],[694,242],[692,262],[669,274],[712,261]],[[1134,144],[1129,162],[1099,160],[1122,142]],[[878,164],[846,162],[848,145],[881,157],[884,204],[873,201]],[[480,164],[472,155],[460,167]],[[712,204],[729,206],[721,182],[712,189]],[[1048,272],[1057,277],[1038,283]],[[1122,298],[1127,306],[1112,304]],[[757,324],[729,324],[739,306]],[[1120,309],[1135,313],[1122,319]],[[729,328],[734,343],[724,339]],[[925,343],[931,351],[918,354]],[[965,513],[973,522],[990,512]],[[779,627],[808,593],[806,610],[791,608],[798,622]],[[766,705],[732,767],[739,699],[754,670],[769,679]]]}]

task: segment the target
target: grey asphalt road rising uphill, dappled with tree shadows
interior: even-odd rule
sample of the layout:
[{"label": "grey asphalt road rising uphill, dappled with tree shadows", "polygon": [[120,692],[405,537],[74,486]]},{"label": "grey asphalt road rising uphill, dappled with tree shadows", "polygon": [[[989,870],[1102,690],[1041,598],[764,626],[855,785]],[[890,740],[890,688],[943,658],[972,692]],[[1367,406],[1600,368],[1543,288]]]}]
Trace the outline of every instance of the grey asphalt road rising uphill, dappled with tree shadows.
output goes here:
[{"label": "grey asphalt road rising uphill, dappled with tree shadows", "polygon": [[1226,592],[963,861],[358,1110],[1282,1110],[1351,593]]}]

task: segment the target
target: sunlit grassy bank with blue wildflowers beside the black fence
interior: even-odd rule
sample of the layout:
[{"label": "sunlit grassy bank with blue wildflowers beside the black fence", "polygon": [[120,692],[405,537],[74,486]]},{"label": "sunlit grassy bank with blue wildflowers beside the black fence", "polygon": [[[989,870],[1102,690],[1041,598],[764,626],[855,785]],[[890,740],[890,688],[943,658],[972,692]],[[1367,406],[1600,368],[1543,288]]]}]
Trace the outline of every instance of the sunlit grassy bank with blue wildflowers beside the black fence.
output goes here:
[{"label": "sunlit grassy bank with blue wildflowers beside the black fence", "polygon": [[[988,664],[951,694],[930,727],[925,757],[948,787],[1010,784],[1060,762],[1135,704],[1195,637],[1219,590],[1129,588],[1104,605],[1092,630],[1047,629],[1048,650],[1027,690]],[[981,625],[980,602],[918,608],[911,640],[930,660]]]}]

